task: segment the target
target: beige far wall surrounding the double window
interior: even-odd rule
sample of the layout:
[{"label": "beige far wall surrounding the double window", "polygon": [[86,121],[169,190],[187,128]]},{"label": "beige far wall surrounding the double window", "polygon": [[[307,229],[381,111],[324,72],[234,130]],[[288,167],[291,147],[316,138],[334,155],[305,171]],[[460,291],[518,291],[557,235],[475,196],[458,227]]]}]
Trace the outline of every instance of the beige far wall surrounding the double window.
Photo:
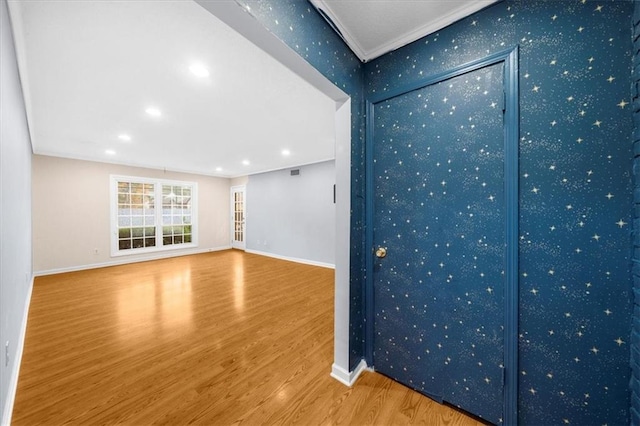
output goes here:
[{"label": "beige far wall surrounding the double window", "polygon": [[[110,255],[111,174],[198,183],[198,248]],[[229,248],[229,179],[33,156],[36,275]],[[95,253],[95,250],[98,253]]]}]

